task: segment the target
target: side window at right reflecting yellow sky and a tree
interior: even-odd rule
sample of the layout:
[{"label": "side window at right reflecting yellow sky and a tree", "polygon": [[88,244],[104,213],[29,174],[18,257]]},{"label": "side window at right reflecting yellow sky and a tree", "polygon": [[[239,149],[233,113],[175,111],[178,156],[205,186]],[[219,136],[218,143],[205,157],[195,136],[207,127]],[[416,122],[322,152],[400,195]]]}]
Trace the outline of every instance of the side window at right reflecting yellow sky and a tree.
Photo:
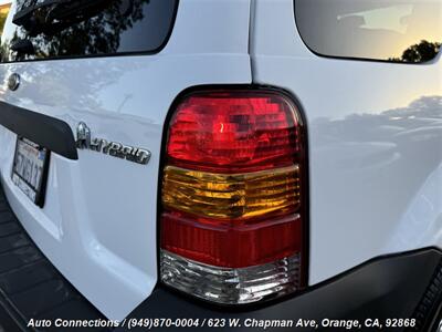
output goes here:
[{"label": "side window at right reflecting yellow sky and a tree", "polygon": [[425,62],[442,41],[442,0],[295,0],[296,24],[322,55]]}]

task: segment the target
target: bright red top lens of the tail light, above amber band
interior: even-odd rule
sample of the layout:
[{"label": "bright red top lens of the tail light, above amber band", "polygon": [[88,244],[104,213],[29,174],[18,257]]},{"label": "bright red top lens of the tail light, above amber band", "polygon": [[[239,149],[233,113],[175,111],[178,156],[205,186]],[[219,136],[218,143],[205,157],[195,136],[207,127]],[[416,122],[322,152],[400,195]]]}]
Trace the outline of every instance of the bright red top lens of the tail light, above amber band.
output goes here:
[{"label": "bright red top lens of the tail light, above amber band", "polygon": [[298,120],[280,96],[248,92],[192,95],[179,105],[167,145],[171,165],[244,173],[293,165]]}]

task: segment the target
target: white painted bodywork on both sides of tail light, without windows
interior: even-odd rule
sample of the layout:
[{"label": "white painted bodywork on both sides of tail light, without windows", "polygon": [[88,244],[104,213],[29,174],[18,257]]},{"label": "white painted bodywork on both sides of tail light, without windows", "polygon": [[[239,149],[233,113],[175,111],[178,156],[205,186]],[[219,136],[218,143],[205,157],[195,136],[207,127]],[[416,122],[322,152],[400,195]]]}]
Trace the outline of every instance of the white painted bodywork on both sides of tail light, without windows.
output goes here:
[{"label": "white painted bodywork on both sides of tail light, without windows", "polygon": [[[15,92],[11,73],[22,77]],[[1,128],[1,180],[51,262],[120,320],[157,283],[161,138],[175,98],[204,84],[284,89],[308,129],[312,286],[380,255],[442,248],[441,75],[440,54],[422,65],[313,54],[292,0],[181,0],[158,54],[0,64],[2,101],[74,133],[85,122],[96,137],[149,149],[150,163],[53,154],[40,209],[11,181],[17,137]],[[422,107],[434,116],[421,116]]]}]

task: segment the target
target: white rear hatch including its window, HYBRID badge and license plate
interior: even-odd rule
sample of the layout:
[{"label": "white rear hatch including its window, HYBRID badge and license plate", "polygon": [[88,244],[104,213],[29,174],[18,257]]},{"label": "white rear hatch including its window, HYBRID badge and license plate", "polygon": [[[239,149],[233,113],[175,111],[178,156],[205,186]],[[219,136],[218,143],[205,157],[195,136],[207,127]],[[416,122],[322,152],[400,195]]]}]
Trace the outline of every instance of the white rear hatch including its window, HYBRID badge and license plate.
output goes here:
[{"label": "white rear hatch including its window, HYBRID badge and license plate", "polygon": [[[0,116],[1,180],[44,255],[107,318],[120,320],[157,283],[157,187],[168,111],[190,86],[251,83],[250,3],[86,1],[85,9],[85,1],[71,2],[12,3],[1,44],[0,108],[11,115]],[[34,20],[35,13],[46,20]],[[83,141],[75,148],[77,134]],[[117,145],[97,152],[94,138]],[[118,144],[124,157],[113,153]],[[17,149],[32,155],[34,148],[48,151],[46,158],[28,156],[42,176],[15,158]],[[125,148],[146,158],[129,158]]]}]

